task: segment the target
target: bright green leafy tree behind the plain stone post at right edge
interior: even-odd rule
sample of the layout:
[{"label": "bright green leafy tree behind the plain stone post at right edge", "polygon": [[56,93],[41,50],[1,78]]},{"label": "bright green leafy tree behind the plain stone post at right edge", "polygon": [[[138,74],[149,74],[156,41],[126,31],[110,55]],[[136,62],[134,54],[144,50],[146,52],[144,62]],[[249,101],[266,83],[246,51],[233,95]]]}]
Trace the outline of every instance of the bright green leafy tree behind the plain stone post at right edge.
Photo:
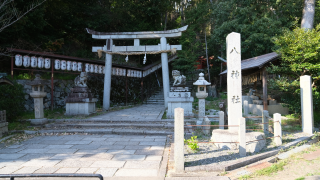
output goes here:
[{"label": "bright green leafy tree behind the plain stone post at right edge", "polygon": [[283,35],[273,38],[275,51],[281,54],[280,65],[268,68],[270,73],[281,77],[269,81],[270,88],[282,92],[281,101],[295,114],[301,114],[300,82],[303,75],[313,80],[313,105],[320,108],[320,24],[313,30],[305,31],[299,27],[293,31],[284,30]]}]

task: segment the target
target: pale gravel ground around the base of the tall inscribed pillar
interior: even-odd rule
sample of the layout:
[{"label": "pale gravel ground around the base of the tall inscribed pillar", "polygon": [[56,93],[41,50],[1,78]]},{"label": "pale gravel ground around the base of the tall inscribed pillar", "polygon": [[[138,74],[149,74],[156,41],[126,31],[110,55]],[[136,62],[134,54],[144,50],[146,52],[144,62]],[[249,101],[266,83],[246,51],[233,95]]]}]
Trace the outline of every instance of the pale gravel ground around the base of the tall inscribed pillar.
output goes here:
[{"label": "pale gravel ground around the base of the tall inscribed pillar", "polygon": [[[282,142],[283,144],[289,143],[299,137],[305,136],[301,132],[286,133],[283,132]],[[272,134],[268,137],[273,136]],[[198,138],[199,142],[208,142],[210,137],[202,136]],[[187,145],[184,146],[185,152],[185,166],[198,166],[198,165],[224,165],[231,160],[240,159],[239,150],[218,149],[213,143],[199,143],[199,150],[194,152]],[[267,139],[266,147],[261,152],[270,151],[276,148],[272,139]],[[257,153],[247,153],[247,156],[255,155]]]}]

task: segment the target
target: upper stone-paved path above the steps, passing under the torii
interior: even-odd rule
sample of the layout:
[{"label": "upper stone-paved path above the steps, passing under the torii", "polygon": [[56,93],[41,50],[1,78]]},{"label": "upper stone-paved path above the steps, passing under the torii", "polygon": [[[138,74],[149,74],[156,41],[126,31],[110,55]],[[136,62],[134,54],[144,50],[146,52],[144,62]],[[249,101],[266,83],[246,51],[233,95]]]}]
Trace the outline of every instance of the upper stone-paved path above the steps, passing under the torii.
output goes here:
[{"label": "upper stone-paved path above the steps, passing under the torii", "polygon": [[151,120],[159,121],[165,107],[157,104],[143,104],[129,109],[109,112],[104,115],[89,118],[89,120]]}]

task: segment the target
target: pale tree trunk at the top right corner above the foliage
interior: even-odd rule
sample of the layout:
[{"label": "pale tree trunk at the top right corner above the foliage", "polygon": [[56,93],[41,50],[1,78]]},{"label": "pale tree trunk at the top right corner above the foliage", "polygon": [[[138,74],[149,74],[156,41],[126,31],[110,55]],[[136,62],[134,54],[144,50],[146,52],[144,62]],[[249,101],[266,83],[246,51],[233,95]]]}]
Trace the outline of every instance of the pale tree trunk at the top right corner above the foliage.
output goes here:
[{"label": "pale tree trunk at the top right corner above the foliage", "polygon": [[315,3],[316,3],[315,0],[304,0],[301,28],[313,29]]}]

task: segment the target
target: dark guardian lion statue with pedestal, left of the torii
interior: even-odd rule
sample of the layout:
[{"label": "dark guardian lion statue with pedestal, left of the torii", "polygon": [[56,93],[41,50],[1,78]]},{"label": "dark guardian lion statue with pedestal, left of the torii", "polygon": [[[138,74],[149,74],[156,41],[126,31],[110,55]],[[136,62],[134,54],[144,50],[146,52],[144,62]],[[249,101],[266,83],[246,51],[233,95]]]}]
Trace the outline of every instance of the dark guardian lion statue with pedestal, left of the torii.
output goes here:
[{"label": "dark guardian lion statue with pedestal, left of the torii", "polygon": [[74,80],[75,87],[66,98],[65,115],[90,115],[96,112],[96,98],[87,86],[87,73],[81,72]]}]

